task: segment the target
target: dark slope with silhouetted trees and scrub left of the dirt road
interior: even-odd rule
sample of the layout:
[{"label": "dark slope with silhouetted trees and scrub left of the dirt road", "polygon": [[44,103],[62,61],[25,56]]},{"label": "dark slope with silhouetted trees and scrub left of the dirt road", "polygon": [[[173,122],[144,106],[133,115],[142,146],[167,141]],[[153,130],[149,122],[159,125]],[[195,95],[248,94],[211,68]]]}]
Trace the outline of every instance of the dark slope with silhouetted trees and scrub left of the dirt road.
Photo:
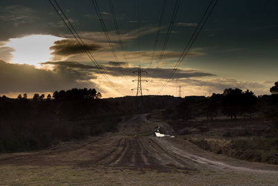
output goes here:
[{"label": "dark slope with silhouetted trees and scrub left of the dirt road", "polygon": [[[72,88],[53,95],[0,97],[0,152],[45,148],[115,130],[113,105],[95,88]],[[106,117],[103,117],[106,115]]]}]

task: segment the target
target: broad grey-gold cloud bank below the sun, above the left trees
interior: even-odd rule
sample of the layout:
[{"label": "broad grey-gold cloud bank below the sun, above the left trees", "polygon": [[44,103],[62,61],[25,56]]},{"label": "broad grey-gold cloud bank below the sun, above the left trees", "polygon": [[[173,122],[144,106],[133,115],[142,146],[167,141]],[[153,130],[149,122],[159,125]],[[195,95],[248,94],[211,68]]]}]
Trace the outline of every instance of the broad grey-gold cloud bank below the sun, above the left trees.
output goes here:
[{"label": "broad grey-gold cloud bank below the sun, above the left trees", "polygon": [[0,93],[46,92],[69,88],[96,87],[90,72],[79,72],[67,65],[55,65],[53,70],[0,61]]}]

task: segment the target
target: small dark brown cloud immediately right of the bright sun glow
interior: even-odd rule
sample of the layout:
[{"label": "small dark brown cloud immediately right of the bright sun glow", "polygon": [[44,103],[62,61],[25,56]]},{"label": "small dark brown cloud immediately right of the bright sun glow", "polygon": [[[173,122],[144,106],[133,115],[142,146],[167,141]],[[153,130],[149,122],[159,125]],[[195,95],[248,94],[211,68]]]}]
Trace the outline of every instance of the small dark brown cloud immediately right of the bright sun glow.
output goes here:
[{"label": "small dark brown cloud immediately right of the bright sun glow", "polygon": [[[102,48],[101,45],[96,43],[86,43],[86,46],[90,51],[96,51]],[[84,52],[83,47],[81,47],[78,42],[72,39],[57,40],[54,42],[53,46],[49,47],[49,49],[54,50],[54,52],[51,54],[59,56],[69,56],[72,54],[80,54]]]}]

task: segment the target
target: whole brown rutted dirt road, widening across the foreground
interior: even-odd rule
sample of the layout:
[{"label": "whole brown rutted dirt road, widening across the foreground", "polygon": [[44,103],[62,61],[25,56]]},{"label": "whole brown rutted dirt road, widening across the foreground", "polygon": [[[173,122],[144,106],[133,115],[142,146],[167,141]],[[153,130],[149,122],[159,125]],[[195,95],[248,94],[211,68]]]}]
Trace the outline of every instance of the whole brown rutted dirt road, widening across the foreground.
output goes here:
[{"label": "whole brown rutted dirt road, widening across the foreground", "polygon": [[[158,121],[136,116],[119,130],[101,137],[59,144],[48,150],[0,155],[0,166],[72,166],[80,169],[106,167],[183,173],[263,173],[277,180],[278,166],[235,160],[197,148],[179,137],[150,135]],[[167,123],[163,123],[163,126]],[[230,174],[231,175],[231,174]],[[278,180],[277,180],[278,184]]]}]

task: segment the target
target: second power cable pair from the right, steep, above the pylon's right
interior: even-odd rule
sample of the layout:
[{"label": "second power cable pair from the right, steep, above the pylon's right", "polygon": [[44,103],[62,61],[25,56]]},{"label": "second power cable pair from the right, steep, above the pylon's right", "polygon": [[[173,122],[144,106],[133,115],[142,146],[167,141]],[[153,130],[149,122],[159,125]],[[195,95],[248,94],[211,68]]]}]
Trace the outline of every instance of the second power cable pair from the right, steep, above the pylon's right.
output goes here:
[{"label": "second power cable pair from the right, steep, above the pylon's right", "polygon": [[163,43],[163,47],[162,47],[162,50],[161,50],[161,54],[159,55],[158,57],[158,61],[157,61],[157,64],[156,64],[156,68],[159,67],[160,63],[161,63],[161,59],[164,55],[164,52],[165,52],[165,49],[166,49],[166,46],[167,46],[167,42],[170,38],[170,35],[171,35],[171,32],[172,32],[172,28],[173,28],[173,25],[174,25],[174,21],[176,20],[176,17],[177,17],[177,13],[178,13],[178,10],[179,10],[179,6],[181,4],[181,1],[180,0],[177,0],[175,5],[174,5],[174,11],[172,13],[172,17],[171,17],[171,20],[170,20],[170,24],[168,26],[168,30],[167,30],[167,33],[166,33],[166,36],[165,36],[165,40],[164,40],[164,43]]}]

